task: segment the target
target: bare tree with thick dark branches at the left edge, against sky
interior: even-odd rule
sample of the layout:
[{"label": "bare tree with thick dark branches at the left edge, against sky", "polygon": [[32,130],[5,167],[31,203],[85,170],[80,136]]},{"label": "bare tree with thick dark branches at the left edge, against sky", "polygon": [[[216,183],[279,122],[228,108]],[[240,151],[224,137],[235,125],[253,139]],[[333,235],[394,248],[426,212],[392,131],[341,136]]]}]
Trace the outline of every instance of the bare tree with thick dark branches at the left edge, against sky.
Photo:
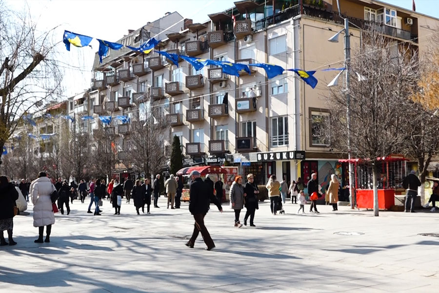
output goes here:
[{"label": "bare tree with thick dark branches at the left edge, against sky", "polygon": [[54,30],[41,32],[28,14],[8,9],[1,0],[0,15],[2,147],[24,113],[59,94],[61,74],[54,58]]}]

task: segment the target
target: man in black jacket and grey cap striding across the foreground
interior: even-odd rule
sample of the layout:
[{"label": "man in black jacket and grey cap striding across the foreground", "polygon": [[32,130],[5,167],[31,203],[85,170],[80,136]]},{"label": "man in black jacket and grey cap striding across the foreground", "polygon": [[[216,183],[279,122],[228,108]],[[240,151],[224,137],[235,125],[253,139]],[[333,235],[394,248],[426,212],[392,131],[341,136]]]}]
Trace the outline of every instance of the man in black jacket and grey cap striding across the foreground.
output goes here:
[{"label": "man in black jacket and grey cap striding across the foreground", "polygon": [[215,203],[220,212],[222,212],[222,207],[213,193],[211,194],[210,192],[207,192],[206,194],[206,183],[200,178],[200,173],[198,171],[193,171],[191,173],[191,180],[189,211],[194,215],[195,225],[192,237],[186,243],[186,246],[194,248],[195,240],[201,232],[204,243],[207,245],[207,250],[210,251],[215,247],[215,243],[210,237],[206,226],[204,226],[204,216],[209,210],[210,205],[209,199]]}]

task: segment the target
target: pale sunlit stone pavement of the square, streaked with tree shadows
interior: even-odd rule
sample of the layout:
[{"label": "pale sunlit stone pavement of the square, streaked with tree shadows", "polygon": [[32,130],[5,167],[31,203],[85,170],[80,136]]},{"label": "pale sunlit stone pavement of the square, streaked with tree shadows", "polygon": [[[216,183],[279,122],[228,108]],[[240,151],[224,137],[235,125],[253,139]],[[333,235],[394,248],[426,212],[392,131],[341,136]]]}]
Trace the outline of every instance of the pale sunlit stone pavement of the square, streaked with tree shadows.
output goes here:
[{"label": "pale sunlit stone pavement of the square, streaked with tree shadows", "polygon": [[[439,292],[438,213],[380,212],[318,206],[320,214],[256,211],[253,227],[233,227],[223,204],[205,218],[216,249],[205,251],[201,235],[184,246],[194,220],[188,204],[121,215],[104,200],[102,216],[74,201],[70,215],[56,215],[51,242],[36,244],[32,204],[14,218],[14,247],[0,247],[0,293],[140,292]],[[308,211],[309,206],[305,207]],[[245,209],[241,212],[241,222]],[[339,233],[341,232],[341,233]]]}]

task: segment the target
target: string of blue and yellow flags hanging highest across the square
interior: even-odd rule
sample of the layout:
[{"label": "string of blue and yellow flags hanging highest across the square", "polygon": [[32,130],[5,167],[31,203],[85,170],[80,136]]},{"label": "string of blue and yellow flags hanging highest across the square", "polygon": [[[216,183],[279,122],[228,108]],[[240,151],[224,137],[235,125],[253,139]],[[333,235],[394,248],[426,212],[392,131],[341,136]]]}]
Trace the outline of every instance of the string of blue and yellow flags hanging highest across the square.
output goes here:
[{"label": "string of blue and yellow flags hanging highest across the square", "polygon": [[[84,36],[76,33],[72,33],[70,31],[64,31],[64,37],[63,42],[66,45],[67,51],[70,51],[70,44],[73,44],[76,47],[84,47],[89,45],[89,43],[93,40],[92,37]],[[115,43],[115,42],[108,42],[104,40],[97,39],[99,41],[99,60],[100,63],[102,63],[102,57],[106,56],[109,49],[112,50],[120,50],[123,47],[123,44]],[[154,47],[156,47],[159,44],[160,40],[156,40],[155,38],[151,38],[148,41],[141,44],[139,47],[132,47],[132,46],[126,46],[126,48],[131,49],[136,52],[142,52],[144,54],[149,54]],[[175,64],[177,67],[179,67],[179,61],[180,59],[183,59],[184,61],[190,63],[195,70],[200,70],[204,66],[207,65],[215,65],[220,66],[222,68],[223,73],[233,75],[233,76],[240,76],[242,74],[249,74],[251,75],[251,71],[249,66],[259,67],[263,68],[265,70],[265,73],[267,74],[267,77],[269,79],[272,79],[278,75],[283,74],[285,69],[282,66],[269,64],[269,63],[250,63],[250,64],[243,64],[243,63],[232,63],[227,61],[217,61],[217,60],[210,60],[210,59],[200,59],[196,57],[189,57],[184,56],[180,54],[175,53],[168,53],[166,51],[155,51],[156,53],[160,54],[161,56],[166,57],[168,60],[170,60],[171,63]],[[343,71],[345,68],[327,68],[323,69],[321,71],[330,71],[330,70],[337,70],[337,71]],[[318,84],[317,79],[314,77],[314,73],[316,73],[316,70],[313,71],[306,71],[302,69],[292,68],[292,69],[286,69],[287,71],[292,71],[296,73],[301,80],[303,80],[306,84],[310,85],[312,88],[315,88]],[[334,82],[334,81],[333,81]],[[337,84],[335,81],[332,85]],[[328,85],[330,86],[330,85]]]}]

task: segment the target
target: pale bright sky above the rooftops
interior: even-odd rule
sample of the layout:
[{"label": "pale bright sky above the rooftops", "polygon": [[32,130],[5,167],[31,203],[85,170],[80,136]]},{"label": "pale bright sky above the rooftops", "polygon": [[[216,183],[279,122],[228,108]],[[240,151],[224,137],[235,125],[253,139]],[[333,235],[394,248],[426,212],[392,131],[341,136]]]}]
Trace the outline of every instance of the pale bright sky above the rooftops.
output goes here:
[{"label": "pale bright sky above the rooftops", "polygon": [[[437,3],[439,0],[415,0],[419,13],[439,18]],[[178,11],[184,18],[194,22],[207,21],[207,15],[220,12],[233,6],[234,0],[6,0],[15,10],[30,8],[34,21],[40,29],[60,27],[56,30],[62,40],[64,29],[95,38],[115,42],[128,29],[138,29],[148,21],[154,21],[166,12]],[[384,2],[406,9],[412,8],[412,0],[385,0]],[[59,44],[59,56],[65,63],[65,97],[80,93],[90,85],[91,69],[96,40],[93,49],[71,48],[65,50]],[[68,65],[67,65],[68,64]]]}]

